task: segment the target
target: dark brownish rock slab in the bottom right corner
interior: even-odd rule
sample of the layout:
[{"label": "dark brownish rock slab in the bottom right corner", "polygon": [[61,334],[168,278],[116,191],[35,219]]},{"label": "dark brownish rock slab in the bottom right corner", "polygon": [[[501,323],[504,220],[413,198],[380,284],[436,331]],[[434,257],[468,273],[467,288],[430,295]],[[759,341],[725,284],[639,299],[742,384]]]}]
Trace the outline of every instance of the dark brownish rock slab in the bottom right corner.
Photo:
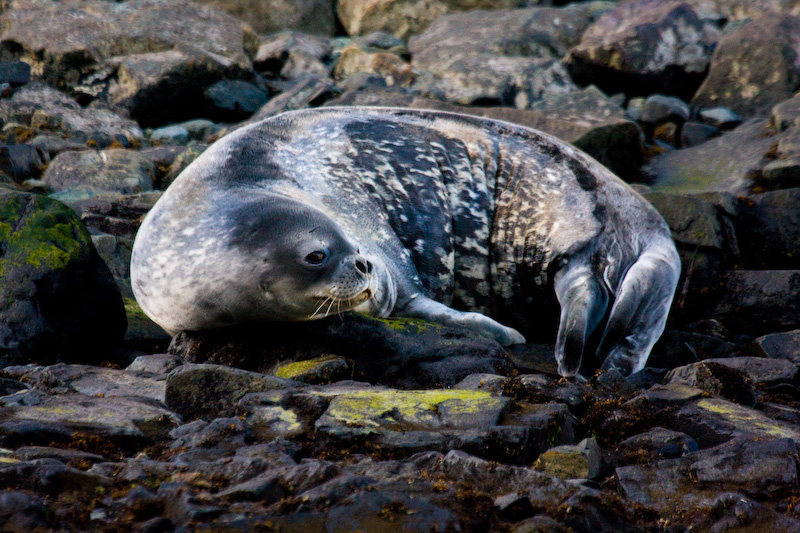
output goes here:
[{"label": "dark brownish rock slab in the bottom right corner", "polygon": [[657,512],[699,509],[722,492],[774,497],[797,482],[789,439],[726,443],[653,464],[617,468],[621,493]]}]

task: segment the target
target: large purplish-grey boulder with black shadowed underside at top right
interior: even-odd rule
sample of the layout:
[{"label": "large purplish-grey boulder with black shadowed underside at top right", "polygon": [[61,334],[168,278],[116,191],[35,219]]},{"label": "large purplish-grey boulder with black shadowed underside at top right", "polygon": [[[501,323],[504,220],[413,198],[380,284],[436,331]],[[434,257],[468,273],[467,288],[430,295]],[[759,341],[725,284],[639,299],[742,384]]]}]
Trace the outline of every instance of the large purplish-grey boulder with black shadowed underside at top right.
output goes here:
[{"label": "large purplish-grey boulder with black shadowed underside at top right", "polygon": [[636,0],[603,14],[566,59],[580,85],[609,94],[656,92],[691,98],[720,37],[683,2]]}]

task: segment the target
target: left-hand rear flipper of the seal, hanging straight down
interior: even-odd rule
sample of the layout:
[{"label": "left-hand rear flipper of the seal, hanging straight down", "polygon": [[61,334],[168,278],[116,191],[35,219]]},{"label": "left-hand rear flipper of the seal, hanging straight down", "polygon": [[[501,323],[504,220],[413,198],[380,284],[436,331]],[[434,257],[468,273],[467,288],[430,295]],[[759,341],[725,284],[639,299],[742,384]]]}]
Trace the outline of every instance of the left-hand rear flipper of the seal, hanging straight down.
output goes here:
[{"label": "left-hand rear flipper of the seal, hanging straight down", "polygon": [[555,349],[558,373],[574,376],[580,369],[586,340],[605,315],[608,294],[588,264],[560,271],[555,290],[561,305]]}]

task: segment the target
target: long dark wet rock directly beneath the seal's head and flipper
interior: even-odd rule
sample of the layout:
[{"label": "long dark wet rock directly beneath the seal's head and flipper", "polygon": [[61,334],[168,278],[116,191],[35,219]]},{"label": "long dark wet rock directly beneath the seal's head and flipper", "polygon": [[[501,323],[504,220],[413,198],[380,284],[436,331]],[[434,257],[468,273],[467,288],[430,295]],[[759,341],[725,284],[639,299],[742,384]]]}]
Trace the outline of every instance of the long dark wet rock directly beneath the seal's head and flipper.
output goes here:
[{"label": "long dark wet rock directly beneath the seal's head and flipper", "polygon": [[195,363],[263,373],[271,373],[279,363],[337,355],[353,361],[355,379],[399,388],[451,386],[469,374],[494,373],[508,365],[494,340],[472,331],[357,314],[182,332],[170,352]]}]

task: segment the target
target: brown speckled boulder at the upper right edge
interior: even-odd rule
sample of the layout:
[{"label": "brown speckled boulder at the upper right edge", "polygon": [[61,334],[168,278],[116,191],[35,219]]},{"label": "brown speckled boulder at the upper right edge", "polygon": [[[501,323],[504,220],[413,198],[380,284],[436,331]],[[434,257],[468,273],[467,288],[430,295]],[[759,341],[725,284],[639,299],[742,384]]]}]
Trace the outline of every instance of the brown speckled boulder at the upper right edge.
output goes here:
[{"label": "brown speckled boulder at the upper right edge", "polygon": [[720,39],[692,105],[727,107],[745,118],[767,116],[797,90],[800,17],[754,19]]}]

